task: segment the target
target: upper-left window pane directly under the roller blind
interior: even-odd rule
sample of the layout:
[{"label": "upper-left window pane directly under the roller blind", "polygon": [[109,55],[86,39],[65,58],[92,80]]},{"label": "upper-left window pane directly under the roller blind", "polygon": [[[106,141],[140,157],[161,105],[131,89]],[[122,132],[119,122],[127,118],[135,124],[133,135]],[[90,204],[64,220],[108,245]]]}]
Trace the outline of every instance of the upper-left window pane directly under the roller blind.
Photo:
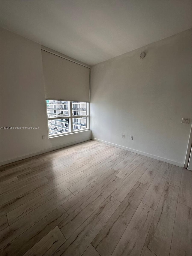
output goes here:
[{"label": "upper-left window pane directly under the roller blind", "polygon": [[[68,101],[46,100],[47,117],[68,116]],[[62,107],[61,107],[62,106]]]}]

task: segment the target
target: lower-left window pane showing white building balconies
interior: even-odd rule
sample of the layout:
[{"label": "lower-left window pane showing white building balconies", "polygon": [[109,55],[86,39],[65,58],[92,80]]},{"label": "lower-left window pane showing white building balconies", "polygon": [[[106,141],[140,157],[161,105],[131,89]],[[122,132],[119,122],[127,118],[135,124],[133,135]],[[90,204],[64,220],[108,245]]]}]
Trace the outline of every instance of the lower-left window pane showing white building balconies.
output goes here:
[{"label": "lower-left window pane showing white building balconies", "polygon": [[69,132],[69,119],[48,120],[49,135]]}]

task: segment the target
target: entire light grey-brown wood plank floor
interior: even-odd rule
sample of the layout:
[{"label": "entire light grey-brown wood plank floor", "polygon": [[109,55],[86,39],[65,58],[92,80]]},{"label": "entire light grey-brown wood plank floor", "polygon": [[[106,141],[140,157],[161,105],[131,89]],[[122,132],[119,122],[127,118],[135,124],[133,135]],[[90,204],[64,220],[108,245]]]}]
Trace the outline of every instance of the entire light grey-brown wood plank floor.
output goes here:
[{"label": "entire light grey-brown wood plank floor", "polygon": [[0,170],[1,256],[191,256],[189,170],[93,140]]}]

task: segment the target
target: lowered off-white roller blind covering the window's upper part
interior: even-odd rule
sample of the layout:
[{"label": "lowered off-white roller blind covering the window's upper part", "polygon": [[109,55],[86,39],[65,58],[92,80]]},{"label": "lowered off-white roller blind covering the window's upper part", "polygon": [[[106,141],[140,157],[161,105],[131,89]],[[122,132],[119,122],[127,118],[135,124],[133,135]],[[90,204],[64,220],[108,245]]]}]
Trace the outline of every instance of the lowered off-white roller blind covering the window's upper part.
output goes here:
[{"label": "lowered off-white roller blind covering the window's upper part", "polygon": [[46,99],[89,102],[89,68],[41,52]]}]

